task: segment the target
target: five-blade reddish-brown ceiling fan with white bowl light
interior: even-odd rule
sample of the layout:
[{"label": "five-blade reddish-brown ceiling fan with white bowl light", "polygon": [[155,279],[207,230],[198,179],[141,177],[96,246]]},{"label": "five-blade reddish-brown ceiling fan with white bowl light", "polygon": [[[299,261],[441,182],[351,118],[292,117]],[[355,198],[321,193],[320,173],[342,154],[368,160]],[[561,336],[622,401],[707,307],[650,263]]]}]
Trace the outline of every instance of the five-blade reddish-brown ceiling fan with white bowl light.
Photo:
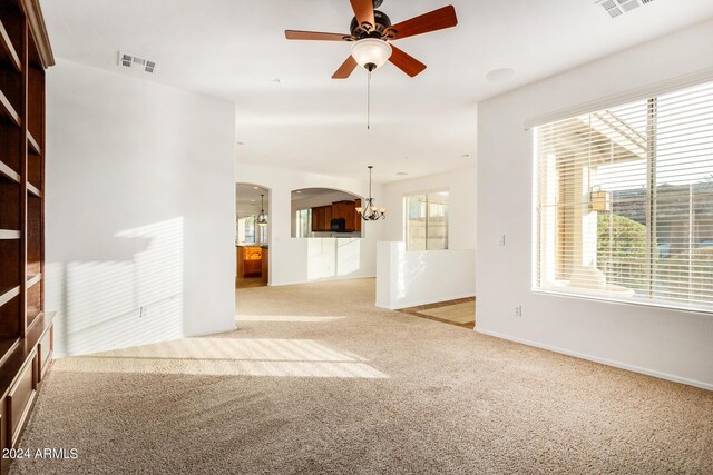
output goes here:
[{"label": "five-blade reddish-brown ceiling fan with white bowl light", "polygon": [[391,61],[403,72],[414,77],[426,69],[426,65],[394,47],[391,42],[458,24],[453,6],[439,8],[410,20],[391,24],[391,20],[385,13],[374,10],[381,6],[383,0],[350,0],[350,2],[355,14],[350,27],[350,34],[285,31],[285,38],[289,40],[353,42],[352,53],[334,72],[332,79],[349,78],[356,66],[371,72],[387,61]]}]

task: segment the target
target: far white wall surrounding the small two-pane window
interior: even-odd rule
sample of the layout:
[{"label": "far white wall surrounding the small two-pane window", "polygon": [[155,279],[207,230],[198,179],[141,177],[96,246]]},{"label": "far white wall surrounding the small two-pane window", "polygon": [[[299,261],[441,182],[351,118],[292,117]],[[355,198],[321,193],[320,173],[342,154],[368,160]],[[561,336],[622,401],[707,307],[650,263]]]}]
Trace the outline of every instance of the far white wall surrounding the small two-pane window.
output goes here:
[{"label": "far white wall surrounding the small two-pane window", "polygon": [[[463,159],[465,161],[466,159]],[[449,189],[448,247],[476,248],[476,168],[394,181],[384,185],[384,206],[389,210],[385,239],[403,240],[403,197],[421,191]]]}]

